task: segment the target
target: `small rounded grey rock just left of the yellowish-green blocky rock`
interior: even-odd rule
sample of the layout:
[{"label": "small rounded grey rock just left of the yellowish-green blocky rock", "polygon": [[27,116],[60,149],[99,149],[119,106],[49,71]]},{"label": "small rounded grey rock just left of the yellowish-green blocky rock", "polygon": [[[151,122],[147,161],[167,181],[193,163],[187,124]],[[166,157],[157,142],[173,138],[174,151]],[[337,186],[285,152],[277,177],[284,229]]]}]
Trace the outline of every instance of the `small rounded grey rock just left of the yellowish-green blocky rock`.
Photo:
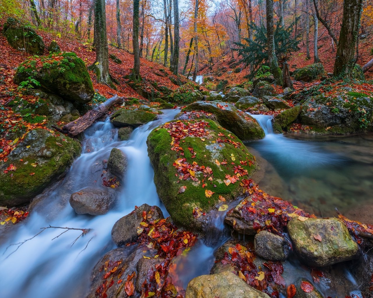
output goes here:
[{"label": "small rounded grey rock just left of the yellowish-green blocky rock", "polygon": [[285,261],[290,247],[285,238],[267,231],[260,231],[254,238],[255,253],[270,261]]}]

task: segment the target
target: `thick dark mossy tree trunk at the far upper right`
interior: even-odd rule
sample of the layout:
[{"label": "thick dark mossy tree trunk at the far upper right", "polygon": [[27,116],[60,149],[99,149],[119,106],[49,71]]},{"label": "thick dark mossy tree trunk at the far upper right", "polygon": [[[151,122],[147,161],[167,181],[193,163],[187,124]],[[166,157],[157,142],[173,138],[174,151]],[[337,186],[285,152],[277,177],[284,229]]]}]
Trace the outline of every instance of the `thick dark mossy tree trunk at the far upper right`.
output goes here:
[{"label": "thick dark mossy tree trunk at the far upper right", "polygon": [[334,76],[351,79],[355,66],[355,45],[359,33],[362,0],[345,0],[342,27],[339,34]]}]

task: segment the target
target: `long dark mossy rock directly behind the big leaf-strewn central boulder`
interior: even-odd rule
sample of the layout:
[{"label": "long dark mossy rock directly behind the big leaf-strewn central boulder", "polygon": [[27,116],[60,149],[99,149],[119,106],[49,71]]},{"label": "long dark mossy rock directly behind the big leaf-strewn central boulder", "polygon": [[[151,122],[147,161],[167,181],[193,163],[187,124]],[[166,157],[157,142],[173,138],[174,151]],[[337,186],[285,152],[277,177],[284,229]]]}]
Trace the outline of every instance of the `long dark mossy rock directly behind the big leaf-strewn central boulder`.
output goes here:
[{"label": "long dark mossy rock directly behind the big leaf-strewn central boulder", "polygon": [[219,101],[197,101],[182,111],[198,110],[215,114],[219,124],[232,131],[241,140],[255,140],[264,137],[264,131],[257,121],[247,113],[239,112],[232,104]]}]

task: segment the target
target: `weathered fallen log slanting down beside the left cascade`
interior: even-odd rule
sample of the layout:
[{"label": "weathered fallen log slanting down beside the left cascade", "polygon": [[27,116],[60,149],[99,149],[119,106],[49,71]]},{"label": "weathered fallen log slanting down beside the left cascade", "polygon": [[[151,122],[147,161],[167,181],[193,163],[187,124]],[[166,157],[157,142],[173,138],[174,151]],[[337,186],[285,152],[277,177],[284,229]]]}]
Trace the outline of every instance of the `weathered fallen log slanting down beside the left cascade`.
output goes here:
[{"label": "weathered fallen log slanting down beside the left cascade", "polygon": [[84,130],[90,127],[94,121],[104,116],[113,104],[120,104],[123,101],[124,98],[116,94],[100,104],[98,107],[85,113],[82,117],[79,117],[75,121],[71,121],[64,125],[62,129],[59,130],[62,133],[68,134],[69,136],[77,136],[79,133],[82,133]]}]

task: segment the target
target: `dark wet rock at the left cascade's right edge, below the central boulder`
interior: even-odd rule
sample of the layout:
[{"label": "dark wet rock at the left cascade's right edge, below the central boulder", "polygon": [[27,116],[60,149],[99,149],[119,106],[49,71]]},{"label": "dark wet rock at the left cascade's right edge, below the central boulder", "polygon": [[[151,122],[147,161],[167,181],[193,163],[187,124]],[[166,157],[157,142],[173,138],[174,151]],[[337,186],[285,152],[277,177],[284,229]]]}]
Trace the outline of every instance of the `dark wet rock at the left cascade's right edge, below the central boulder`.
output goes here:
[{"label": "dark wet rock at the left cascade's right edge, below the central boulder", "polygon": [[164,218],[162,210],[159,207],[142,204],[128,215],[120,218],[114,224],[112,228],[112,240],[116,245],[120,246],[134,242],[137,239],[137,227],[139,227],[140,222],[142,222],[143,211],[147,212],[148,222]]}]

